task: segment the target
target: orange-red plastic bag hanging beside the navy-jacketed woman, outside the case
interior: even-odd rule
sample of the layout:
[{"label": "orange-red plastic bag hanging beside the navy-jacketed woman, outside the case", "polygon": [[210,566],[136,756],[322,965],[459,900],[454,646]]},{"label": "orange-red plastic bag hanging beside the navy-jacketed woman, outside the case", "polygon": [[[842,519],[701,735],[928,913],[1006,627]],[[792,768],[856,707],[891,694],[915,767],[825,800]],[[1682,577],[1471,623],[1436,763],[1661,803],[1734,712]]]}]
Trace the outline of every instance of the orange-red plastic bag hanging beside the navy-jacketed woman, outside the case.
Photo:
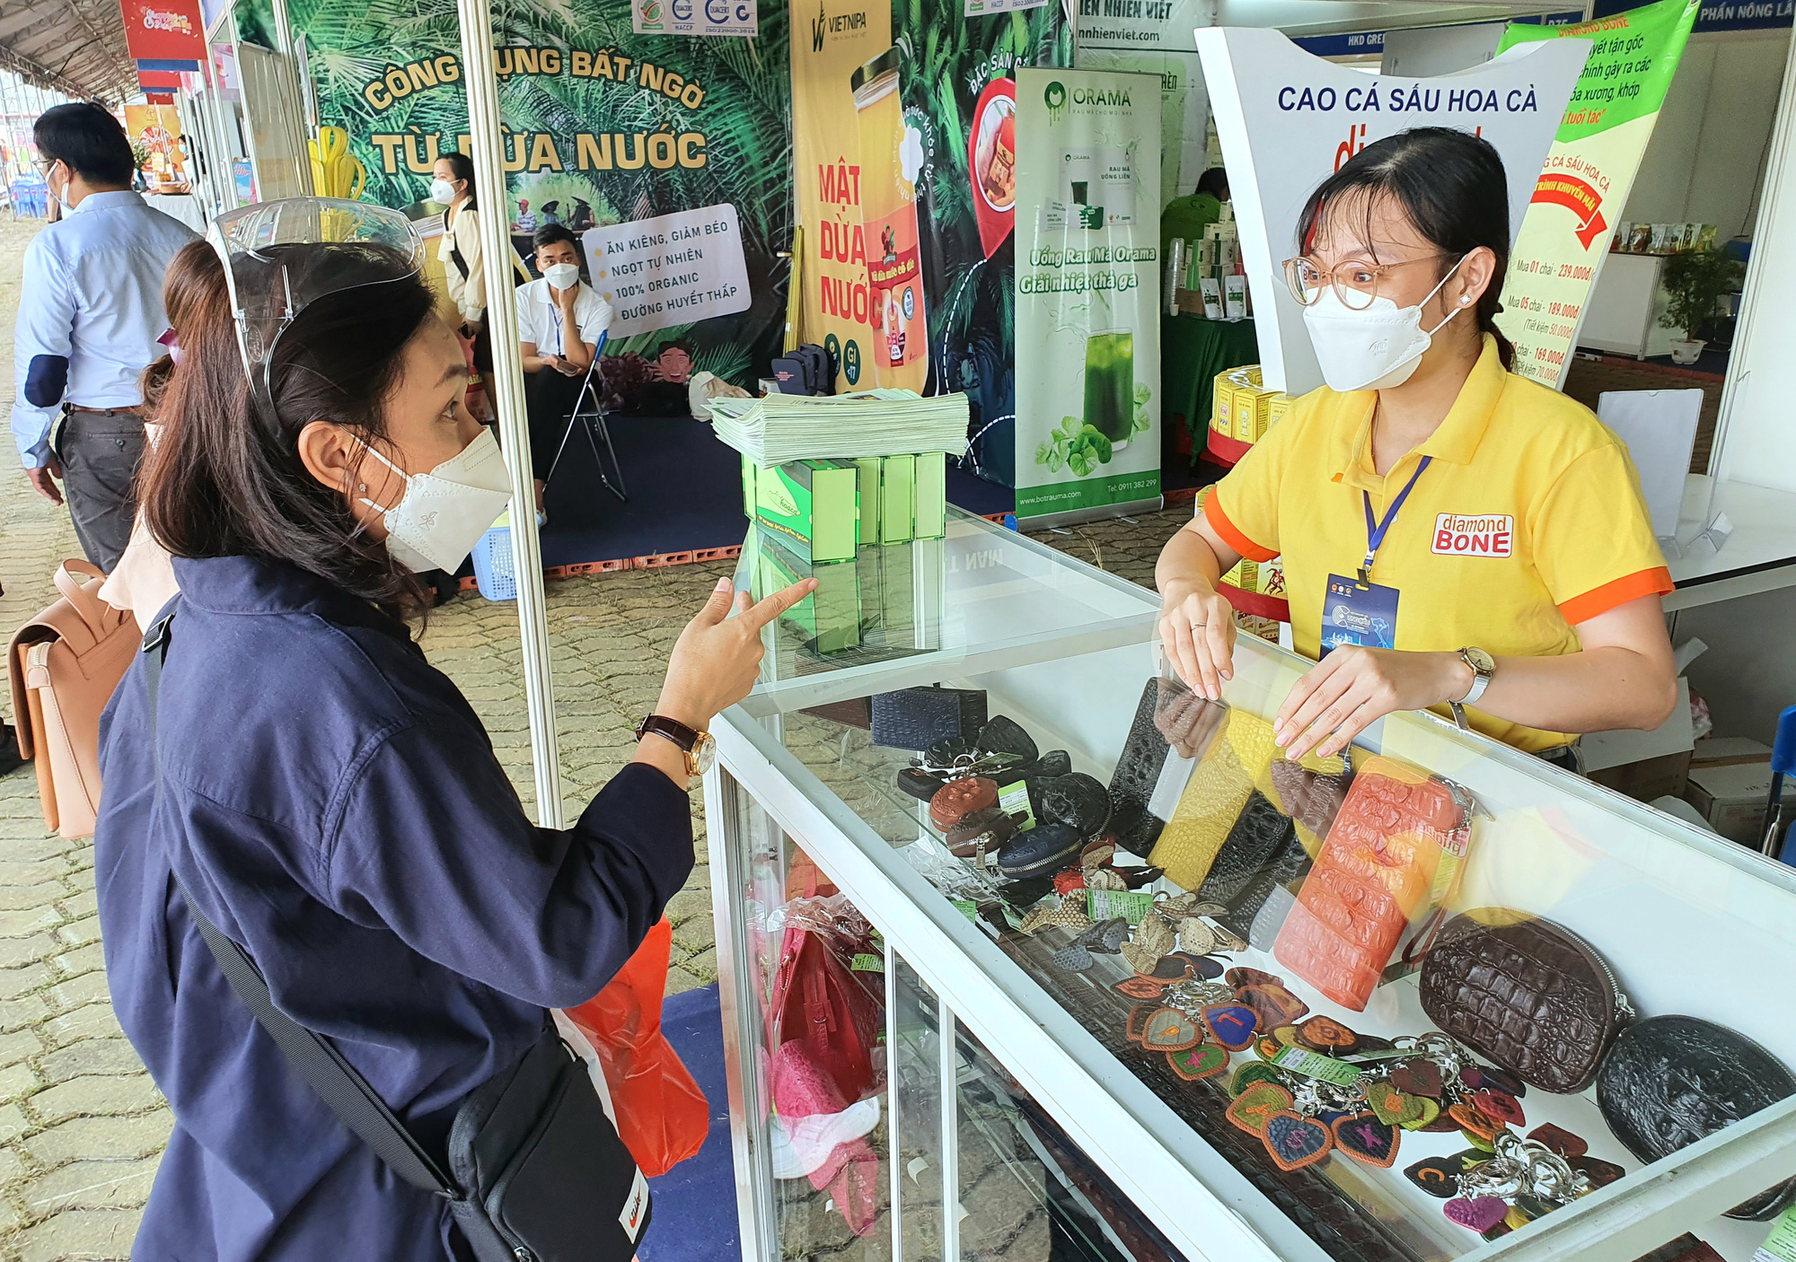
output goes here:
[{"label": "orange-red plastic bag hanging beside the navy-jacketed woman, outside the case", "polygon": [[603,991],[568,1009],[605,1070],[618,1136],[648,1178],[695,1156],[711,1127],[704,1091],[661,1032],[672,942],[663,916]]}]

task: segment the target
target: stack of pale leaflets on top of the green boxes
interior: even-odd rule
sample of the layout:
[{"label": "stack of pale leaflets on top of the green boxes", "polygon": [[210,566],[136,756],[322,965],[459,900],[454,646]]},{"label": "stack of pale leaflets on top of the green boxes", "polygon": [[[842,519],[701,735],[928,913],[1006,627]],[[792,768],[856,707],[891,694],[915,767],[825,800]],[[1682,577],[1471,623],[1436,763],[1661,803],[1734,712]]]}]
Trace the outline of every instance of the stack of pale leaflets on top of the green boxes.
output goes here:
[{"label": "stack of pale leaflets on top of the green boxes", "polygon": [[966,451],[966,395],[923,399],[911,390],[862,390],[713,399],[709,408],[717,436],[762,469],[794,460]]}]

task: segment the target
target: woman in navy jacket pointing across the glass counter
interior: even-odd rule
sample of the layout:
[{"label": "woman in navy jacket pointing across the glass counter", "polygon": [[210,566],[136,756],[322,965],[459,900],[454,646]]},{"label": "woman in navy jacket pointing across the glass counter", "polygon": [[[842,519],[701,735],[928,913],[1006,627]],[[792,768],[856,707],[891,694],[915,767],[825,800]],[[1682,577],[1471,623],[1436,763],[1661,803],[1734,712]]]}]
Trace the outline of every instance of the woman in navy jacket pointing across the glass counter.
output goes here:
[{"label": "woman in navy jacket pointing across the glass counter", "polygon": [[[530,822],[480,718],[413,643],[426,596],[393,555],[444,551],[435,510],[485,504],[492,521],[490,497],[453,478],[481,434],[462,348],[402,251],[293,250],[289,267],[329,264],[338,291],[262,361],[255,337],[239,343],[217,255],[189,260],[210,298],[181,330],[144,486],[181,589],[160,799],[142,662],[101,736],[108,980],[176,1117],[133,1257],[462,1258],[447,1205],[395,1178],[232,993],[176,874],[277,1007],[440,1151],[462,1099],[535,1043],[544,1007],[598,993],[684,883],[688,759],[650,734],[571,829]],[[406,495],[433,512],[399,513]],[[702,731],[740,700],[760,628],[805,591],[744,596],[726,621],[718,583],[656,713]]]}]

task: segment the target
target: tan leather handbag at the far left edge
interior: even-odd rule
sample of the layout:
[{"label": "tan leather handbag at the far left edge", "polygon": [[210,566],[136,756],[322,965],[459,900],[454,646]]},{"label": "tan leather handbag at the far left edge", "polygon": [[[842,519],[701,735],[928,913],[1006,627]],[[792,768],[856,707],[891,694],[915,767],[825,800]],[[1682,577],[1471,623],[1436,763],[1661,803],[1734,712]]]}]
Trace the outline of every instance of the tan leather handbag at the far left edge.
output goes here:
[{"label": "tan leather handbag at the far left edge", "polygon": [[38,767],[43,826],[90,837],[101,804],[101,711],[138,646],[136,619],[99,598],[84,560],[56,571],[63,598],[18,628],[7,652],[18,752]]}]

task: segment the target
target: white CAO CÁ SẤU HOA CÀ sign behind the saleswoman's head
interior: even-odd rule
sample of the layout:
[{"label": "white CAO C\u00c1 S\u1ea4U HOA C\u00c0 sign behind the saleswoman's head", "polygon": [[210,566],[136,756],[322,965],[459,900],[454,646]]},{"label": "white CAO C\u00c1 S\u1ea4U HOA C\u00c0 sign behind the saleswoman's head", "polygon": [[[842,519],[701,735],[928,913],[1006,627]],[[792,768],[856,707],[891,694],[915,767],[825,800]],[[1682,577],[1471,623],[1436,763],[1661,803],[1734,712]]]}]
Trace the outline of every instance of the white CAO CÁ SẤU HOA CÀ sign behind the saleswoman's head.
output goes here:
[{"label": "white CAO C\u00c1 S\u1ea4U HOA C\u00c0 sign behind the saleswoman's head", "polygon": [[1322,384],[1302,307],[1282,275],[1297,253],[1297,215],[1316,185],[1399,131],[1473,131],[1503,156],[1514,244],[1589,52],[1589,39],[1552,39],[1473,70],[1415,79],[1338,66],[1277,31],[1211,27],[1196,32],[1196,43],[1241,224],[1261,375],[1268,390],[1293,399]]}]

